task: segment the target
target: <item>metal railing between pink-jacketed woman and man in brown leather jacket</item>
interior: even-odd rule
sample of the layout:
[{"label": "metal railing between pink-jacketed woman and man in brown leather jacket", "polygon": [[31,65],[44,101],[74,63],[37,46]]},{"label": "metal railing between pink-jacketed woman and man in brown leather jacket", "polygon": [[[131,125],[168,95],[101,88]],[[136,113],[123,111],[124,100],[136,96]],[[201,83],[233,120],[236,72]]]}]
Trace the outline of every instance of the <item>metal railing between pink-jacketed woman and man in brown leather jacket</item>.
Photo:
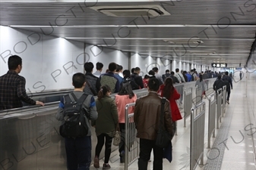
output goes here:
[{"label": "metal railing between pink-jacketed woman and man in brown leather jacket", "polygon": [[136,128],[134,124],[134,113],[128,113],[129,107],[134,107],[135,103],[126,104],[125,107],[125,170],[131,165],[139,156],[140,142],[136,138]]}]

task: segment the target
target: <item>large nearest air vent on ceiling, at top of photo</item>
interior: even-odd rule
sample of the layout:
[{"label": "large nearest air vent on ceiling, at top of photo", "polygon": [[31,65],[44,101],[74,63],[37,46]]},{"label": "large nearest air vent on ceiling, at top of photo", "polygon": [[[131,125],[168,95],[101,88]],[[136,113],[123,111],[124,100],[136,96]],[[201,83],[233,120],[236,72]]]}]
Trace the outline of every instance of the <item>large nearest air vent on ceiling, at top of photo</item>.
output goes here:
[{"label": "large nearest air vent on ceiling, at top of photo", "polygon": [[160,5],[93,6],[91,9],[112,17],[158,17],[170,15]]}]

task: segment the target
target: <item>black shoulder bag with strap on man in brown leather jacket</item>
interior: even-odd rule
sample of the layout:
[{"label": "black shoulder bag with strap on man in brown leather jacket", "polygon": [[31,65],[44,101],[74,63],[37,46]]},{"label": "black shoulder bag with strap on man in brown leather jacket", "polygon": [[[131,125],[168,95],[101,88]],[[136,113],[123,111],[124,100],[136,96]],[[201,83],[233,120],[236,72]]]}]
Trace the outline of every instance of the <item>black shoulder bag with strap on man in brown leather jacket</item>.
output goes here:
[{"label": "black shoulder bag with strap on man in brown leather jacket", "polygon": [[156,146],[157,147],[167,147],[169,145],[169,142],[171,141],[172,137],[169,134],[169,131],[166,131],[164,128],[164,104],[166,104],[166,98],[162,97],[161,99],[161,114],[160,114],[160,122],[159,122],[159,128],[156,134]]}]

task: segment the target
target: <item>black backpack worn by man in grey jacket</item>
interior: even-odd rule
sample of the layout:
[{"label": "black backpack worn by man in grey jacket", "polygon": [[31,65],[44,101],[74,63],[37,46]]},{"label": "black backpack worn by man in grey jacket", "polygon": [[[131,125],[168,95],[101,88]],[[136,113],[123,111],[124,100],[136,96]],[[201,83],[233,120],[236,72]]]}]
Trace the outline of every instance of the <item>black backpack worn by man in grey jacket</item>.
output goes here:
[{"label": "black backpack worn by man in grey jacket", "polygon": [[83,104],[88,94],[82,94],[77,100],[74,93],[65,95],[65,107],[63,110],[63,117],[65,123],[60,126],[59,134],[63,138],[85,137],[88,134],[89,127],[85,117],[88,118],[87,110],[84,109]]}]

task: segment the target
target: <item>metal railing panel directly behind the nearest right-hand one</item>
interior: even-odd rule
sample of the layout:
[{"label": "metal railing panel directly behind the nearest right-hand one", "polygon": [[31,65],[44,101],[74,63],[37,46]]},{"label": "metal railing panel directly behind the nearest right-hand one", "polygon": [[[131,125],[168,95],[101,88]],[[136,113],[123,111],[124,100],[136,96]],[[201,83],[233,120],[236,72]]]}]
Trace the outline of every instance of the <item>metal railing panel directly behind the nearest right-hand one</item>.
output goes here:
[{"label": "metal railing panel directly behind the nearest right-hand one", "polygon": [[216,123],[216,92],[210,94],[209,100],[209,116],[208,116],[208,148],[210,148],[210,136],[213,134],[215,138]]}]

